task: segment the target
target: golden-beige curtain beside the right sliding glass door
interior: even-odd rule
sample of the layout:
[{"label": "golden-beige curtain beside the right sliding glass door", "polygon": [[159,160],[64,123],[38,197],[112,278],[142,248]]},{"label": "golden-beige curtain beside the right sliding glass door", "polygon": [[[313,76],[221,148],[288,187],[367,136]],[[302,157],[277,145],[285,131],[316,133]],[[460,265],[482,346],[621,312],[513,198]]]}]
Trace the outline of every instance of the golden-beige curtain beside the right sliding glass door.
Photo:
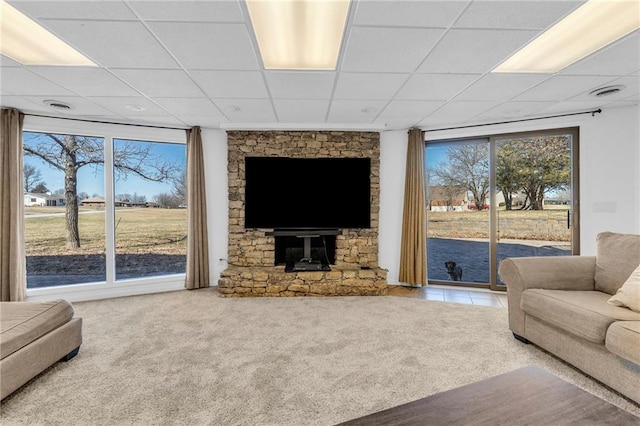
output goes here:
[{"label": "golden-beige curtain beside the right sliding glass door", "polygon": [[411,129],[407,145],[399,281],[412,286],[427,284],[425,199],[424,137],[420,129]]}]

